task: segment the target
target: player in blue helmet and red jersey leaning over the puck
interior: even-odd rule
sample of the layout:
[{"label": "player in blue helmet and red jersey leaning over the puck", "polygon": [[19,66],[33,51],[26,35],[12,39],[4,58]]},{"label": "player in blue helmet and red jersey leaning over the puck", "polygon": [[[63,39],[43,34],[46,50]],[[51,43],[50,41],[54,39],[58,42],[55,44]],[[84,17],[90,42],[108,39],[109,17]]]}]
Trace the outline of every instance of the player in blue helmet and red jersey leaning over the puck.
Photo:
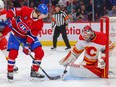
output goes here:
[{"label": "player in blue helmet and red jersey leaning over the puck", "polygon": [[[47,17],[48,7],[45,4],[38,5],[35,9],[27,6],[21,8],[12,8],[7,12],[7,18],[12,19],[12,27],[7,21],[7,25],[12,29],[8,40],[8,73],[7,78],[13,79],[13,67],[15,59],[18,56],[18,50],[21,43],[23,43],[23,52],[30,55],[34,52],[34,60],[31,66],[31,77],[44,78],[44,75],[38,73],[41,60],[44,56],[42,45],[37,36],[42,30],[42,19]],[[19,42],[17,39],[21,42]],[[38,64],[36,64],[36,62]]]}]

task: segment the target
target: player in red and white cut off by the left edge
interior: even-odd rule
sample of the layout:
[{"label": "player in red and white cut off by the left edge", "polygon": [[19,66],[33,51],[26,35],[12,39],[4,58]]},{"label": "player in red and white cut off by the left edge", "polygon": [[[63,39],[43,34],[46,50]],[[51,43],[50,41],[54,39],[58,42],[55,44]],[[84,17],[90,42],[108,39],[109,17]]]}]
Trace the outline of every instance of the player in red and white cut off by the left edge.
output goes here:
[{"label": "player in red and white cut off by the left edge", "polygon": [[[8,60],[8,51],[7,51],[7,39],[5,37],[5,32],[8,30],[9,27],[5,24],[5,20],[7,15],[7,11],[4,8],[4,2],[0,0],[0,50],[3,52],[3,54],[6,57],[6,60]],[[5,31],[5,32],[4,32]],[[17,71],[18,67],[14,67],[14,71]]]}]

